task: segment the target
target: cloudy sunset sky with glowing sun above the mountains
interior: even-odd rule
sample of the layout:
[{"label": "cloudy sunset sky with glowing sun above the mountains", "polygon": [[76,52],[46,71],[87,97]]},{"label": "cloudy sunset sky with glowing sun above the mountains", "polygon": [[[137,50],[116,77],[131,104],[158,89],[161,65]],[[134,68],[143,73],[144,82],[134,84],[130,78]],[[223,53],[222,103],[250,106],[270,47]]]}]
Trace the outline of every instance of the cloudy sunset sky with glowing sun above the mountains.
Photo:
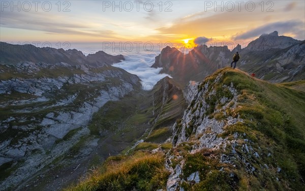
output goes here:
[{"label": "cloudy sunset sky with glowing sun above the mountains", "polygon": [[[304,1],[0,1],[0,41],[223,46],[305,39]],[[123,44],[124,45],[124,44]],[[121,45],[121,46],[123,46]]]}]

